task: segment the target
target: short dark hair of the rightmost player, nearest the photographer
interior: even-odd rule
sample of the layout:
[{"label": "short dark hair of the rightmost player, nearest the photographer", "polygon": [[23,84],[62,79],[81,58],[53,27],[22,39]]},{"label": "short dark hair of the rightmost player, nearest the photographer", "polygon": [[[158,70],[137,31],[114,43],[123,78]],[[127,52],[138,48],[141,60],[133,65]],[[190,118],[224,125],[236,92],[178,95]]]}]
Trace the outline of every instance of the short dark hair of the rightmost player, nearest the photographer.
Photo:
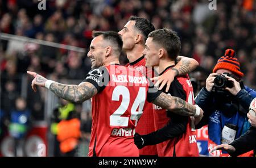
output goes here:
[{"label": "short dark hair of the rightmost player, nearest the photographer", "polygon": [[152,37],[152,41],[166,49],[168,56],[175,60],[181,49],[180,37],[175,31],[167,28],[152,31],[148,37]]}]

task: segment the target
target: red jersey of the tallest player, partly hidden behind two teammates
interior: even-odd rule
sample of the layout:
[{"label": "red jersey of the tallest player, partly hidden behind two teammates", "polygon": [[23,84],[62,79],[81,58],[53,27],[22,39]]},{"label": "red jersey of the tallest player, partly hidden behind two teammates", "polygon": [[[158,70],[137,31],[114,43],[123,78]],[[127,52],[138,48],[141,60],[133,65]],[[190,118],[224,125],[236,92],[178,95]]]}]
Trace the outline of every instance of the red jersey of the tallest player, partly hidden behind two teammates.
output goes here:
[{"label": "red jersey of the tallest player, partly hidden behind two teammates", "polygon": [[[153,77],[154,75],[151,68],[146,68],[146,60],[143,57],[139,58],[137,61],[127,64],[128,67],[133,67],[142,74],[146,75],[147,78]],[[140,135],[146,135],[148,133],[154,132],[154,117],[153,117],[153,104],[145,103],[145,110],[141,119],[138,122],[136,132]],[[144,148],[139,149],[140,155],[157,155],[156,145],[144,146]]]}]

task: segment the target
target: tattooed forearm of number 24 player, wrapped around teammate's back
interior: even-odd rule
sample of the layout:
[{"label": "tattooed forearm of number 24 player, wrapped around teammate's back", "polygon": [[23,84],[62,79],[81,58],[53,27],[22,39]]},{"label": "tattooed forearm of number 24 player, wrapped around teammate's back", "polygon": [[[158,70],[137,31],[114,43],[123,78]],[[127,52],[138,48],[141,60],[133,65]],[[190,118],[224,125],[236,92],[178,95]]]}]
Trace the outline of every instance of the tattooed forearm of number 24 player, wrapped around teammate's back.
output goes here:
[{"label": "tattooed forearm of number 24 player, wrapped around teammate's back", "polygon": [[[196,115],[196,107],[192,104],[185,102],[183,99],[177,98],[175,96],[170,96],[165,93],[161,93],[152,103],[165,108],[166,110],[175,112],[176,114],[183,116],[195,116]],[[200,114],[197,114],[203,117],[203,110],[200,109]]]}]

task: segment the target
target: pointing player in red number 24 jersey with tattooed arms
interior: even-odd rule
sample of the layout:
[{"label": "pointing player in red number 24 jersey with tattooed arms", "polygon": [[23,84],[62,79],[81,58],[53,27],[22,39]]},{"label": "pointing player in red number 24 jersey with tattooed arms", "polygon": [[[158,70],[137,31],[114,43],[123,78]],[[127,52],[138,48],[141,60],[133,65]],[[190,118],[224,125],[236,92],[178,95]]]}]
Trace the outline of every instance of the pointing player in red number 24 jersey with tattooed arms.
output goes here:
[{"label": "pointing player in red number 24 jersey with tattooed arms", "polygon": [[93,32],[93,37],[87,54],[92,70],[79,85],[64,85],[27,72],[35,77],[31,84],[34,91],[36,85],[47,87],[75,103],[92,98],[88,156],[139,156],[133,138],[146,100],[180,115],[203,115],[199,107],[157,90],[137,70],[119,65],[122,39],[118,33]]}]

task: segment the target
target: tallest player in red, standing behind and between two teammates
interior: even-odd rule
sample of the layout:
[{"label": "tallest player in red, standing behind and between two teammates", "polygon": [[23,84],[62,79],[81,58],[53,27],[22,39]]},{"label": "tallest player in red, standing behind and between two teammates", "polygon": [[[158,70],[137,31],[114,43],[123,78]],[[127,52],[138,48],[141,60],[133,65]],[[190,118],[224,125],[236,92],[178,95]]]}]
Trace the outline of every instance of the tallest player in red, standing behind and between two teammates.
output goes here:
[{"label": "tallest player in red, standing behind and between two teammates", "polygon": [[[144,44],[148,34],[154,30],[155,27],[147,19],[131,16],[123,29],[118,32],[123,40],[123,51],[125,51],[130,62],[126,66],[133,67],[134,69],[146,75],[148,78],[154,77],[154,74],[152,74],[151,68],[147,69],[145,67],[146,62],[143,55],[143,50],[145,48]],[[162,85],[166,85],[167,83],[167,89],[170,87],[175,75],[187,74],[199,65],[198,62],[192,58],[179,56],[177,57],[177,60],[180,61],[177,62],[177,65],[175,65],[174,68],[169,70],[166,74],[154,78],[159,78],[158,82],[162,82]],[[158,84],[156,83],[156,85]],[[163,87],[162,85],[159,87],[159,89]],[[155,128],[152,103],[146,102],[145,110],[141,119],[139,120],[136,132],[145,135],[153,131],[155,131]],[[139,153],[141,156],[157,155],[156,146],[146,146],[143,149],[140,149]]]}]

